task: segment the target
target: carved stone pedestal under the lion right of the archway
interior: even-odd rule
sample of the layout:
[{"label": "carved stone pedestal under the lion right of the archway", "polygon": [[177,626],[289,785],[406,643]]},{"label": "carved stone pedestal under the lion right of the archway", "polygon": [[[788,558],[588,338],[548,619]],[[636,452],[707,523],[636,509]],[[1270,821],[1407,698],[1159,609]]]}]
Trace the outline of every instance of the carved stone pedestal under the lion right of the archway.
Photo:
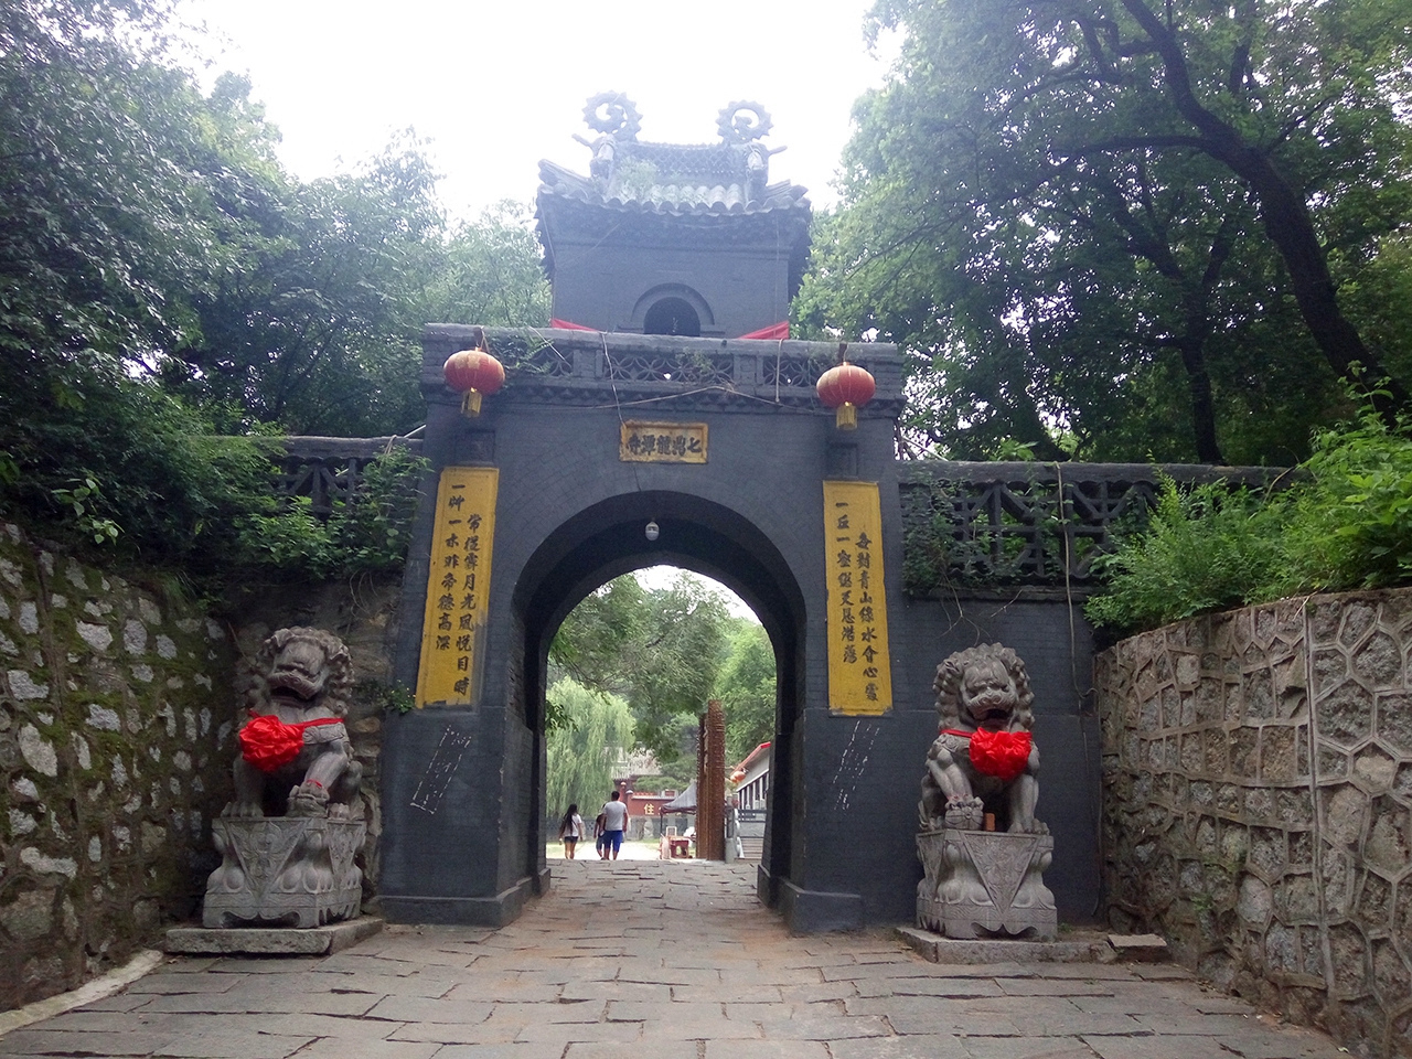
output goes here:
[{"label": "carved stone pedestal under the lion right of the archway", "polygon": [[946,938],[1028,938],[1059,933],[1043,871],[1053,860],[1049,834],[918,832],[926,877],[916,884],[916,925]]}]

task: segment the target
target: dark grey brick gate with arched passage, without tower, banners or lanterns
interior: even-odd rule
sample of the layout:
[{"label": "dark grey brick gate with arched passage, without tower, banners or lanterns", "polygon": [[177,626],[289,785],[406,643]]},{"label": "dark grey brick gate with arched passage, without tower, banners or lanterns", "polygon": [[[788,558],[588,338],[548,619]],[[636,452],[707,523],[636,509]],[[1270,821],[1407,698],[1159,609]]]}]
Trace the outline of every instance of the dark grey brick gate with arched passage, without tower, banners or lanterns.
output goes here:
[{"label": "dark grey brick gate with arched passage, without tower, banners or lanterns", "polygon": [[[719,579],[775,647],[778,714],[760,895],[795,931],[911,922],[918,781],[936,730],[932,675],[955,650],[1001,640],[1038,692],[1041,816],[1056,836],[1048,880],[1065,921],[1099,909],[1099,743],[1084,706],[1087,627],[1063,600],[908,599],[902,592],[901,364],[856,347],[878,397],[858,429],[834,429],[813,394],[834,347],[626,333],[494,332],[505,388],[459,414],[441,367],[469,328],[433,326],[422,385],[424,453],[496,466],[484,675],[470,706],[390,717],[383,747],[381,901],[404,922],[504,923],[549,885],[544,693],[549,641],[589,592],[671,563]],[[626,419],[705,422],[709,462],[618,459]],[[825,479],[877,481],[891,626],[894,709],[830,714],[825,657]],[[905,484],[905,483],[902,483]],[[644,535],[661,527],[657,541]],[[432,544],[419,517],[401,614],[398,678],[414,683]]]}]

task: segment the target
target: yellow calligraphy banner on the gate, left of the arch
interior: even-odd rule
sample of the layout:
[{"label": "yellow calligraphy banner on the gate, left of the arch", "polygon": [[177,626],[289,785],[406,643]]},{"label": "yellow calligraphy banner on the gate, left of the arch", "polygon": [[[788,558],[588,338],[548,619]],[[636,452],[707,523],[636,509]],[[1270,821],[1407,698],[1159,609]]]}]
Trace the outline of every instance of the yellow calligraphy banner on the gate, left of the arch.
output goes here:
[{"label": "yellow calligraphy banner on the gate, left of the arch", "polygon": [[417,675],[418,706],[467,706],[479,690],[498,486],[496,467],[442,470]]}]

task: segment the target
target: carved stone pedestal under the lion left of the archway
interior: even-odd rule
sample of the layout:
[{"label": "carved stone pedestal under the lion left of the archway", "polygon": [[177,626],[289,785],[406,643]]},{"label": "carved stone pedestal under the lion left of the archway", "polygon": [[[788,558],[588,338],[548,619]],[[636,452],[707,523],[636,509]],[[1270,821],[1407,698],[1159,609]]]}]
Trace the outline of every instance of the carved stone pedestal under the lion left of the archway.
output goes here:
[{"label": "carved stone pedestal under the lion left of the archway", "polygon": [[212,820],[220,867],[206,880],[205,926],[322,926],[359,914],[363,820],[264,816]]}]

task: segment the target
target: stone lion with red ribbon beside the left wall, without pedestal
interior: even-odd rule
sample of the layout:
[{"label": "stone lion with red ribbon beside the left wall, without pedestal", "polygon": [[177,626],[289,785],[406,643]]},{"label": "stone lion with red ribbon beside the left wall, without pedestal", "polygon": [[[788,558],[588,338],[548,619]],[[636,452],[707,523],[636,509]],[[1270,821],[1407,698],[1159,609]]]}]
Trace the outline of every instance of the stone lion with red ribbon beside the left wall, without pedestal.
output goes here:
[{"label": "stone lion with red ribbon beside the left wall, without pedestal", "polygon": [[350,816],[363,767],[343,727],[353,688],[343,641],[281,628],[260,645],[246,681],[236,799],[222,815]]}]

